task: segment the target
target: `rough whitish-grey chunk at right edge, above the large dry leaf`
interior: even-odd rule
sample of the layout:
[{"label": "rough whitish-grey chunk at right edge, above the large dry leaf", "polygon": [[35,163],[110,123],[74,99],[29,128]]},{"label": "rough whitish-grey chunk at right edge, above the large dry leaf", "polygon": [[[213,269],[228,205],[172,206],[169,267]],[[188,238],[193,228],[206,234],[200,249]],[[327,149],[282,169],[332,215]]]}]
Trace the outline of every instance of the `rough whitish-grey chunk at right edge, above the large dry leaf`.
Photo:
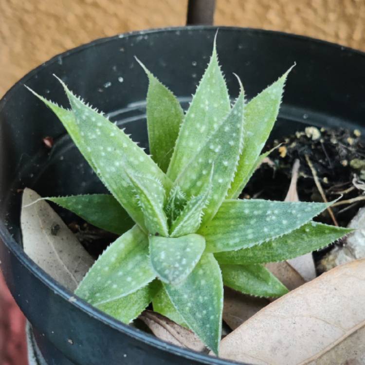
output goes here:
[{"label": "rough whitish-grey chunk at right edge, above the large dry leaf", "polygon": [[348,227],[356,228],[356,231],[346,237],[343,246],[335,246],[323,257],[318,266],[320,271],[328,271],[337,265],[365,257],[365,208],[359,209]]}]

